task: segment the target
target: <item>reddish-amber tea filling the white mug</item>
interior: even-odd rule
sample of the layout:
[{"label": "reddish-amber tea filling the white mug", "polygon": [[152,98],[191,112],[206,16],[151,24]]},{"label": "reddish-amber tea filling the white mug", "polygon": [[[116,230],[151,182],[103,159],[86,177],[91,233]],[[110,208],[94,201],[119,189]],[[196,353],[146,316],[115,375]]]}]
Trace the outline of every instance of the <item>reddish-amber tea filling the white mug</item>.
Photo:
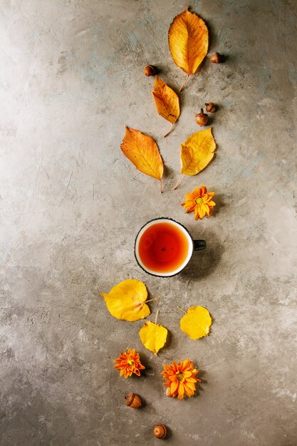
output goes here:
[{"label": "reddish-amber tea filling the white mug", "polygon": [[189,252],[189,239],[174,224],[160,222],[145,229],[138,253],[142,264],[155,272],[167,273],[181,266]]}]

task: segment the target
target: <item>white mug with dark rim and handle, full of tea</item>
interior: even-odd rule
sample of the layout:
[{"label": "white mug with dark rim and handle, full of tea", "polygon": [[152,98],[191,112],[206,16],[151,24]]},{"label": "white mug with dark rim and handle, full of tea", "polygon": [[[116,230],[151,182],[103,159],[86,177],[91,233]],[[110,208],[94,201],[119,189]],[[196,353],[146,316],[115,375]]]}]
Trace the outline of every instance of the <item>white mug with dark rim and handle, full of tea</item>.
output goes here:
[{"label": "white mug with dark rim and handle, full of tea", "polygon": [[193,240],[182,224],[160,217],[140,229],[135,239],[134,254],[137,264],[146,273],[171,277],[187,266],[194,251],[206,247],[205,240]]}]

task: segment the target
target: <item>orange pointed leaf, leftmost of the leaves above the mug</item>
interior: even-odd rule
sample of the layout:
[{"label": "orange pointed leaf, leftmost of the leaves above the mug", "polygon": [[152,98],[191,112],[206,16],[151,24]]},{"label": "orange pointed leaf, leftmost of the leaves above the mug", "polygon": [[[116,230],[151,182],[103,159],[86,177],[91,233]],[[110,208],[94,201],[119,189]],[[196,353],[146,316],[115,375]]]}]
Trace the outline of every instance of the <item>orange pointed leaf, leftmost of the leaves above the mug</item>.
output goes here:
[{"label": "orange pointed leaf, leftmost of the leaves above the mug", "polygon": [[140,172],[160,180],[164,172],[164,165],[156,142],[150,136],[129,127],[125,128],[125,137],[120,146],[125,157],[128,158]]}]

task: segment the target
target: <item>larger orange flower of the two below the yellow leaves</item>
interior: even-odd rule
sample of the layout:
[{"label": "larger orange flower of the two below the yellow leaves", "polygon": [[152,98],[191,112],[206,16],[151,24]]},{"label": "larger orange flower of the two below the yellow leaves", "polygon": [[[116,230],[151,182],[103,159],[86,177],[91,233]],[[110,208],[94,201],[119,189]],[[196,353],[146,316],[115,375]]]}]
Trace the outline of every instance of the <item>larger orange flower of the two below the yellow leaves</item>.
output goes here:
[{"label": "larger orange flower of the two below the yellow leaves", "polygon": [[172,365],[163,365],[164,372],[161,373],[167,383],[163,383],[166,387],[170,388],[170,396],[176,397],[179,400],[184,398],[184,394],[187,397],[194,395],[196,391],[196,383],[201,383],[201,380],[196,378],[198,373],[197,368],[194,368],[192,361],[186,359],[186,361],[179,363],[172,362]]}]

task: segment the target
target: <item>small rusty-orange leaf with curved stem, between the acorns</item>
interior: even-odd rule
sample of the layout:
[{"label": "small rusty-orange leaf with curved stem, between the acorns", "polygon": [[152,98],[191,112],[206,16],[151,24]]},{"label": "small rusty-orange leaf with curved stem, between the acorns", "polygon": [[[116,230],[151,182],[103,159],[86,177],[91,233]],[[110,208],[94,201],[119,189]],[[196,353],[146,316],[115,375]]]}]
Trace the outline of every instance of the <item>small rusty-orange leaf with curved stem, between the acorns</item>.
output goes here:
[{"label": "small rusty-orange leaf with curved stem, between the acorns", "polygon": [[157,112],[162,118],[165,118],[171,123],[171,128],[167,136],[172,130],[172,125],[179,118],[179,98],[177,93],[175,93],[172,88],[166,85],[162,79],[155,76],[154,90],[152,90],[152,95],[155,99],[155,104]]}]

